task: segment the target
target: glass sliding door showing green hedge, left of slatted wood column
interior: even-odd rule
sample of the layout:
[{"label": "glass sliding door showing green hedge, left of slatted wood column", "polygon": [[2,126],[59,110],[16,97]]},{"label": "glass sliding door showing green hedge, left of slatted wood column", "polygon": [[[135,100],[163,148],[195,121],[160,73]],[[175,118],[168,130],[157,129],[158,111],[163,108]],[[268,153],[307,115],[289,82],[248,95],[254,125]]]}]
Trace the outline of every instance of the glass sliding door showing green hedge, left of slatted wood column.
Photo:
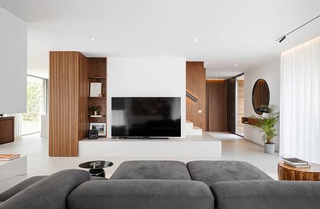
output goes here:
[{"label": "glass sliding door showing green hedge, left of slatted wood column", "polygon": [[27,110],[22,114],[22,135],[41,131],[41,115],[47,112],[47,79],[27,76]]}]

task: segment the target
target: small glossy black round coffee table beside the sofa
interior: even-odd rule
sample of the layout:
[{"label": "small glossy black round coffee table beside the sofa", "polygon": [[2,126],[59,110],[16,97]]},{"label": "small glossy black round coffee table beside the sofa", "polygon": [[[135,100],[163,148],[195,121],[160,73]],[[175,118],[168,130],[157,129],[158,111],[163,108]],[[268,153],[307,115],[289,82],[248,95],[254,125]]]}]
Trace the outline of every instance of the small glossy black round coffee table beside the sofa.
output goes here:
[{"label": "small glossy black round coffee table beside the sofa", "polygon": [[112,166],[113,162],[104,160],[95,160],[79,164],[80,168],[89,169],[90,176],[99,176],[104,178],[106,177],[106,173],[104,173],[104,168]]}]

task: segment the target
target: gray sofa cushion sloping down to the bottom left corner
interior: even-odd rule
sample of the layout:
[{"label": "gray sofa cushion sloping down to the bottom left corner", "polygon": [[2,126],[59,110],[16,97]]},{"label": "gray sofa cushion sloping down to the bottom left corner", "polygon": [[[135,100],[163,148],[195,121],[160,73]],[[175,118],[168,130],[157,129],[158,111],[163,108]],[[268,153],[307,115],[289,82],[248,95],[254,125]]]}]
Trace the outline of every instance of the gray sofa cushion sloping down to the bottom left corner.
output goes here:
[{"label": "gray sofa cushion sloping down to the bottom left corner", "polygon": [[79,169],[59,171],[10,197],[0,204],[0,209],[67,208],[67,196],[87,180],[90,180],[88,171]]}]

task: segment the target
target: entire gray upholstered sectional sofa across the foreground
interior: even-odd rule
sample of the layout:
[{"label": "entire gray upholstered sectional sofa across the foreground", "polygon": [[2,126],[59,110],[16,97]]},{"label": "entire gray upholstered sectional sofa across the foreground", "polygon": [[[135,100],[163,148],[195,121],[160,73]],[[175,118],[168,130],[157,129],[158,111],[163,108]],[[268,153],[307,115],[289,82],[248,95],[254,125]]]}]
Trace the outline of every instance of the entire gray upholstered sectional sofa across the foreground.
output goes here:
[{"label": "entire gray upholstered sectional sofa across the foreground", "polygon": [[127,161],[109,180],[77,169],[28,178],[0,194],[2,208],[320,208],[320,183],[272,180],[248,162]]}]

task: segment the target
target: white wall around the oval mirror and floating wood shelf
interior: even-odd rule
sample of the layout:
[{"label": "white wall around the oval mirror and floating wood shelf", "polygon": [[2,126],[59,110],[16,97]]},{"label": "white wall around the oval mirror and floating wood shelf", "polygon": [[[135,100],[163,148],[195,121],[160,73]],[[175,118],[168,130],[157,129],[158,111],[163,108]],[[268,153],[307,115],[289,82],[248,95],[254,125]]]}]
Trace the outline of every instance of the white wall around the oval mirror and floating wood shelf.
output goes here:
[{"label": "white wall around the oval mirror and floating wood shelf", "polygon": [[[244,114],[252,116],[255,114],[252,103],[253,86],[257,79],[265,79],[269,85],[270,102],[280,108],[280,56],[272,59],[253,70],[244,73]],[[279,130],[279,125],[278,125]],[[244,125],[244,137],[257,144],[264,144],[262,133],[253,125]],[[275,150],[279,150],[279,137],[275,137]]]}]

